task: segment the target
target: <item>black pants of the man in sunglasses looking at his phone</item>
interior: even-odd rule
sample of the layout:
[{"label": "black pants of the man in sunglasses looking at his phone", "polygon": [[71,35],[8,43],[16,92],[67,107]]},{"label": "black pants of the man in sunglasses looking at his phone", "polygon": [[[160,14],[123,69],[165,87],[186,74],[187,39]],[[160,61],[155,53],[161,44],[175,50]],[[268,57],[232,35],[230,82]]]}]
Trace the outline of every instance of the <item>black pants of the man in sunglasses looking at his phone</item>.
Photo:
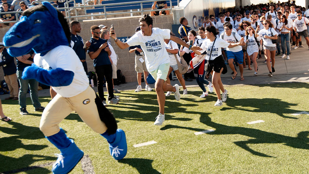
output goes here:
[{"label": "black pants of the man in sunglasses looking at his phone", "polygon": [[113,82],[112,82],[112,65],[101,65],[95,66],[95,73],[98,76],[98,92],[101,100],[106,100],[104,98],[104,77],[107,82],[107,91],[108,91],[108,100],[112,100],[114,98],[114,90],[113,90]]}]

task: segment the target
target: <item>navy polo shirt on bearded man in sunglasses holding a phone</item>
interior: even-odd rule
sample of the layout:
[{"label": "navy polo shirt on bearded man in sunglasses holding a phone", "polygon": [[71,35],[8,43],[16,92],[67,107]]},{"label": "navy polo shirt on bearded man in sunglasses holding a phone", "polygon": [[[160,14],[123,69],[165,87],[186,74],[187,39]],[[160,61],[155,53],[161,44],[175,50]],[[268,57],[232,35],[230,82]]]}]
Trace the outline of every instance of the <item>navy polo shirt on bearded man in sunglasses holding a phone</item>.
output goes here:
[{"label": "navy polo shirt on bearded man in sunglasses holding a phone", "polygon": [[[89,52],[95,52],[99,49],[99,47],[104,44],[107,40],[99,38],[99,40],[96,40],[91,37],[90,39],[90,47],[88,49]],[[98,57],[93,59],[93,66],[101,66],[101,65],[111,65],[111,61],[109,61],[108,53],[104,49],[101,50]]]}]

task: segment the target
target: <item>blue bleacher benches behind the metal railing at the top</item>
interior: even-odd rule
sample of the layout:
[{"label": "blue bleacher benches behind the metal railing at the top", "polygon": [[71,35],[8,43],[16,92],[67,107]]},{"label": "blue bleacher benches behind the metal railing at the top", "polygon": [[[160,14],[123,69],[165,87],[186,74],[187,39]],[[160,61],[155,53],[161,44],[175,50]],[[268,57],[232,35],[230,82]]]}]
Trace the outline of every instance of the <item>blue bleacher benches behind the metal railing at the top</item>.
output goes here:
[{"label": "blue bleacher benches behind the metal railing at the top", "polygon": [[[180,0],[181,1],[181,0]],[[141,3],[134,3],[134,2],[141,2],[141,0],[109,0],[109,1],[102,1],[102,4],[113,4],[113,3],[122,3],[122,2],[133,2],[132,4],[123,4],[123,5],[114,5],[114,6],[106,6],[106,12],[110,11],[124,11],[124,10],[137,10],[141,9]],[[171,0],[172,6],[177,5],[177,0]],[[151,8],[152,2],[145,2],[143,3],[143,9]],[[167,1],[167,6],[170,7],[170,2]],[[99,13],[104,12],[104,7],[95,7],[94,9],[86,10],[86,13]]]}]

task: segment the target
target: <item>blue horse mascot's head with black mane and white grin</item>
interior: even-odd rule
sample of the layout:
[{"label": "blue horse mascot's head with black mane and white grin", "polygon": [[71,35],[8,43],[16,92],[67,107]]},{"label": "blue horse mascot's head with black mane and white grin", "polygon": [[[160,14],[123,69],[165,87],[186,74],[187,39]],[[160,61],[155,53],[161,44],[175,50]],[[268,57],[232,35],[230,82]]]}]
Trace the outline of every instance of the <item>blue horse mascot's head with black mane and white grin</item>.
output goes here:
[{"label": "blue horse mascot's head with black mane and white grin", "polygon": [[46,54],[59,45],[69,45],[71,32],[64,16],[49,2],[23,12],[20,21],[6,32],[3,43],[11,56],[35,53]]}]

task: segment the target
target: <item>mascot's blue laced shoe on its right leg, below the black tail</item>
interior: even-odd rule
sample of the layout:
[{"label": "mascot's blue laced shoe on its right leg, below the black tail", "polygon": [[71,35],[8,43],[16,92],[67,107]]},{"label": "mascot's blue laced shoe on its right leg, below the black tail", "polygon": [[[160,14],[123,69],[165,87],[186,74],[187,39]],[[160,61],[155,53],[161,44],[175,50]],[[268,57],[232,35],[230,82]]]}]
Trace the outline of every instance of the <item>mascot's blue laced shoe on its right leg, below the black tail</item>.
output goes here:
[{"label": "mascot's blue laced shoe on its right leg, below the black tail", "polygon": [[125,131],[117,129],[115,141],[109,144],[109,152],[114,159],[120,160],[127,155],[127,140],[125,138]]}]

